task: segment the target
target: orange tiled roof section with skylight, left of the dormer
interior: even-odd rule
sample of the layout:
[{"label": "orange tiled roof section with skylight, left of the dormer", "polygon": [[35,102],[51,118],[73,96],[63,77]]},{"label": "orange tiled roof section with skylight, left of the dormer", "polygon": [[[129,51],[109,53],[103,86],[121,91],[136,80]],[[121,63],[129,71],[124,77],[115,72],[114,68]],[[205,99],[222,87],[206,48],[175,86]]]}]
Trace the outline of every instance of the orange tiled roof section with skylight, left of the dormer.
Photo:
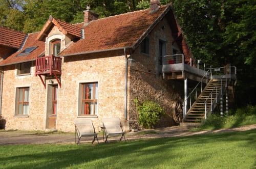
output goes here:
[{"label": "orange tiled roof section with skylight, left of the dormer", "polygon": [[[13,53],[5,60],[1,61],[0,66],[31,61],[31,60],[34,60],[38,55],[43,53],[45,51],[45,42],[36,40],[36,37],[38,36],[38,34],[39,32],[29,34],[23,48]],[[28,47],[33,47],[33,46],[38,46],[38,47],[29,54],[18,56],[18,54],[22,52],[24,49]]]}]

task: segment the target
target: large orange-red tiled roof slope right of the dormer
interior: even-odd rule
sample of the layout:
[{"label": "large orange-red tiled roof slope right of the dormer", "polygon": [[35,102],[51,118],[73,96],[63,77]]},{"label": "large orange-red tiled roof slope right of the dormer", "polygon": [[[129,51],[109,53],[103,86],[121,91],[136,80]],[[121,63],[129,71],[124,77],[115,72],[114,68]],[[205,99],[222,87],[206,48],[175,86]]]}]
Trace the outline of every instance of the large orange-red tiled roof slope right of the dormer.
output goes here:
[{"label": "large orange-red tiled roof slope right of the dormer", "polygon": [[93,20],[84,27],[84,39],[63,50],[60,55],[131,47],[169,6],[161,6],[151,13],[150,9]]}]

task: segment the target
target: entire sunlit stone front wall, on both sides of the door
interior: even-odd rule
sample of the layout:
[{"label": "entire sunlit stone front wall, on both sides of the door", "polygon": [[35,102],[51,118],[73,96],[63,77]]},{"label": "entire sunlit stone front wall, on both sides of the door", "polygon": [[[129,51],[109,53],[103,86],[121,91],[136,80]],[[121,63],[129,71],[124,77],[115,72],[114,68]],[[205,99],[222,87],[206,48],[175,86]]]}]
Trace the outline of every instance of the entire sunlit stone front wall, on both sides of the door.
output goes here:
[{"label": "entire sunlit stone front wall, on both sides of the door", "polygon": [[[98,117],[93,120],[96,130],[103,117],[124,117],[123,50],[107,53],[67,57],[62,60],[61,88],[58,87],[57,129],[74,131],[74,119],[78,117],[78,85],[80,82],[98,81]],[[34,75],[16,76],[15,65],[4,67],[2,116],[6,129],[44,130],[46,127],[47,89]],[[44,76],[42,76],[44,77]],[[47,78],[57,84],[56,79]],[[14,116],[15,89],[30,87],[29,115]]]}]

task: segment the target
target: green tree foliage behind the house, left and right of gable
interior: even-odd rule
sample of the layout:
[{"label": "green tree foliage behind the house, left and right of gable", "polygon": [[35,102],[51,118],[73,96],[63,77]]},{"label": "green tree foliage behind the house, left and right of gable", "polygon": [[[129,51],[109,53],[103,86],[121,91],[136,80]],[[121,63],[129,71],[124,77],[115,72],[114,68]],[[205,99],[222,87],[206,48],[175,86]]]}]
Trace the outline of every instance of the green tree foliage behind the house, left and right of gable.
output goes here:
[{"label": "green tree foliage behind the house, left and right of gable", "polygon": [[[256,1],[161,0],[170,2],[194,57],[212,66],[236,65],[238,102],[256,104]],[[150,0],[0,0],[0,25],[31,33],[49,15],[78,23],[87,5],[102,18],[146,9]]]}]

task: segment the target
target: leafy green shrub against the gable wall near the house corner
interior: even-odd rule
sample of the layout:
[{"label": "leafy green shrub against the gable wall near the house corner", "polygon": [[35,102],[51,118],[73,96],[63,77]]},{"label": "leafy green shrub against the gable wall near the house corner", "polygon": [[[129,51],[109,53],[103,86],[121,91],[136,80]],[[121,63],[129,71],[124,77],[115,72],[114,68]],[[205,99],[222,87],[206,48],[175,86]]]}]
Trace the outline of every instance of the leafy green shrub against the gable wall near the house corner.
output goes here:
[{"label": "leafy green shrub against the gable wall near the house corner", "polygon": [[154,101],[144,101],[139,103],[138,99],[134,100],[139,113],[139,124],[144,128],[154,127],[164,115],[164,109]]}]

